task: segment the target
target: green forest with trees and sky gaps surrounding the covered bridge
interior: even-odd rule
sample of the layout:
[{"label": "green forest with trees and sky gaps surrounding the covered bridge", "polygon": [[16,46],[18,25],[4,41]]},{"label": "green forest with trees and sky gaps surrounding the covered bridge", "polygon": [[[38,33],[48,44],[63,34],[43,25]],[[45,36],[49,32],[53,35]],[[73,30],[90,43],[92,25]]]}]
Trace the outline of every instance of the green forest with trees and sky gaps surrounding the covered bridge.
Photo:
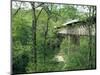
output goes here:
[{"label": "green forest with trees and sky gaps surrounding the covered bridge", "polygon": [[[92,24],[92,16],[96,16],[95,6],[13,1],[13,73],[95,69],[96,33],[92,36],[91,28],[96,28],[96,23]],[[89,29],[78,45],[67,36],[62,39],[55,29],[73,19],[86,21]]]}]

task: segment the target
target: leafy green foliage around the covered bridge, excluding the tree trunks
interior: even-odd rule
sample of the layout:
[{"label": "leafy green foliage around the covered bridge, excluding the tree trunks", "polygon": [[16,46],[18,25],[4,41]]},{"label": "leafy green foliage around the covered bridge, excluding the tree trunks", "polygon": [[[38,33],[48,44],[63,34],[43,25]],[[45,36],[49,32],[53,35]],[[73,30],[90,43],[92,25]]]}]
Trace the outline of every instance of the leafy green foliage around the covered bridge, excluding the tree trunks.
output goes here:
[{"label": "leafy green foliage around the covered bridge, excluding the tree trunks", "polygon": [[[32,10],[21,9],[16,16],[12,16],[12,65],[14,73],[92,69],[96,67],[95,37],[92,38],[92,68],[89,68],[88,36],[80,36],[80,44],[75,44],[71,36],[60,37],[56,34],[54,26],[62,26],[69,19],[84,18],[74,5],[58,5],[48,5],[51,15],[49,15],[47,35],[45,35],[45,31],[48,14],[45,10],[41,12],[37,20],[36,58],[34,58],[32,49],[34,41],[32,40]],[[12,9],[12,12],[14,11]],[[36,16],[39,12],[40,10],[37,9]],[[57,55],[62,56],[64,62],[55,59]],[[36,63],[34,63],[34,59],[37,60]]]}]

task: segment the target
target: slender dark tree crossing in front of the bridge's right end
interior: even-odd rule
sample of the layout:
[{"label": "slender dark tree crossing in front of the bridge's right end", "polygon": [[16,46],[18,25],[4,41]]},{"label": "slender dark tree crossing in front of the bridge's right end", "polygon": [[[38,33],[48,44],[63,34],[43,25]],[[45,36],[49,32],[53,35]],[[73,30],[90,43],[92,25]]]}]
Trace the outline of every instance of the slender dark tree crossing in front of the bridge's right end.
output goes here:
[{"label": "slender dark tree crossing in front of the bridge's right end", "polygon": [[92,27],[95,27],[95,26],[93,26],[93,25],[95,25],[95,23],[93,23],[94,22],[94,17],[95,17],[95,15],[96,15],[96,7],[95,6],[88,6],[88,10],[89,10],[89,15],[88,15],[88,29],[89,29],[89,66],[90,66],[90,68],[92,68],[93,67],[93,64],[92,64],[92,39],[93,39],[93,37],[92,37]]}]

